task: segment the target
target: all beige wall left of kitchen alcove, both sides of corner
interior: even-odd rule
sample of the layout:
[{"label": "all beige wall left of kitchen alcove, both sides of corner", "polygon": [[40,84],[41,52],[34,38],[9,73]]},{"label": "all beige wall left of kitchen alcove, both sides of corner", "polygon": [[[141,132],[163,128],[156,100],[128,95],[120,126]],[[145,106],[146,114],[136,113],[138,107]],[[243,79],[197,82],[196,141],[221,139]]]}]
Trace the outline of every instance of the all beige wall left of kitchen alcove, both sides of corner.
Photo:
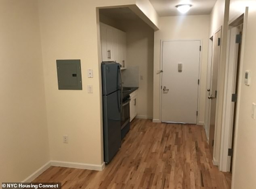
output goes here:
[{"label": "all beige wall left of kitchen alcove, both sides of corner", "polygon": [[[0,182],[23,181],[49,160],[103,163],[96,8],[120,5],[136,0],[0,0]],[[146,7],[137,5],[150,15]],[[81,59],[83,90],[58,90],[57,59]]]}]

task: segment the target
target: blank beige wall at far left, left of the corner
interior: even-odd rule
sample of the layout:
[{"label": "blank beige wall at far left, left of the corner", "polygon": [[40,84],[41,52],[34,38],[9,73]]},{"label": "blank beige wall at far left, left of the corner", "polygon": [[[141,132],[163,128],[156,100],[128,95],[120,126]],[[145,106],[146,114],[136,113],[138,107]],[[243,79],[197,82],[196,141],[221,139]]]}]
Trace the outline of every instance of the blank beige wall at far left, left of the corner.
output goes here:
[{"label": "blank beige wall at far left, left of the corner", "polygon": [[50,160],[35,0],[0,0],[0,183]]}]

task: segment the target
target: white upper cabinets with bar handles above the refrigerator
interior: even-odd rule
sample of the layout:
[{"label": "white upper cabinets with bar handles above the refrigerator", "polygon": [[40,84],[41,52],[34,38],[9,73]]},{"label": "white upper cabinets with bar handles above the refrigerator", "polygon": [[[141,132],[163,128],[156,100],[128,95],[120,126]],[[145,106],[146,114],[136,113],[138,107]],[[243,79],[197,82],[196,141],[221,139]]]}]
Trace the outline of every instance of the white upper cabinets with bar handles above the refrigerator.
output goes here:
[{"label": "white upper cabinets with bar handles above the refrigerator", "polygon": [[100,23],[102,61],[115,61],[121,64],[121,69],[127,68],[126,33]]}]

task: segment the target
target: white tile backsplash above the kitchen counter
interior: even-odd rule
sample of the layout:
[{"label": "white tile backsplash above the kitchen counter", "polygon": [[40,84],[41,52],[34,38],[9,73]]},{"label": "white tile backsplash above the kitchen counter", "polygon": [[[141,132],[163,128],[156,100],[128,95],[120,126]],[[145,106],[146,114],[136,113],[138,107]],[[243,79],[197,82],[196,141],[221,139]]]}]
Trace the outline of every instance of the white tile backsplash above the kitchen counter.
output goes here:
[{"label": "white tile backsplash above the kitchen counter", "polygon": [[140,86],[140,67],[128,66],[122,70],[122,86]]}]

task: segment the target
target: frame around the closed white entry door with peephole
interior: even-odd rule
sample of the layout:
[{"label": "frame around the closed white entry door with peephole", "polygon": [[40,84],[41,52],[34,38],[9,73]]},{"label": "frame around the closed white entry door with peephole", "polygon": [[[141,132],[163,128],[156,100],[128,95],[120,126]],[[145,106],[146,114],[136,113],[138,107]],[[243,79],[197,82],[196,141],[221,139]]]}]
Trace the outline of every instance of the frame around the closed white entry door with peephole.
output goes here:
[{"label": "frame around the closed white entry door with peephole", "polygon": [[160,103],[159,103],[159,108],[160,108],[160,122],[162,122],[162,77],[163,77],[163,46],[164,46],[164,42],[172,42],[172,41],[200,41],[200,45],[201,45],[201,51],[199,51],[199,74],[198,74],[198,79],[200,80],[199,82],[199,86],[197,88],[197,111],[198,111],[198,115],[197,115],[197,125],[199,125],[199,107],[200,107],[200,86],[201,86],[201,62],[202,62],[202,51],[203,51],[203,39],[173,39],[173,40],[160,40],[160,83],[159,83],[159,97],[160,97]]}]

